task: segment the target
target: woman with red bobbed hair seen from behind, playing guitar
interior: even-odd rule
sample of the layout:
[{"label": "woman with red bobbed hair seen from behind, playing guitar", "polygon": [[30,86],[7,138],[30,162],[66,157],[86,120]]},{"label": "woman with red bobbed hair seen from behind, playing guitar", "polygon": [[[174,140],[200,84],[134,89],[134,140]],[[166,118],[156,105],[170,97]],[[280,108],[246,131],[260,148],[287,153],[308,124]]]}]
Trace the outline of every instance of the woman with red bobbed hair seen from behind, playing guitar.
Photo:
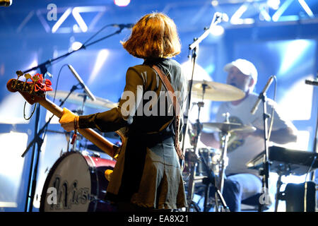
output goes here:
[{"label": "woman with red bobbed hair seen from behind, playing guitar", "polygon": [[[187,81],[179,63],[171,59],[181,49],[176,25],[163,13],[149,13],[134,25],[122,45],[129,54],[144,61],[126,71],[119,106],[79,117],[64,109],[59,122],[66,131],[72,131],[74,124],[103,132],[126,127],[127,139],[106,194],[106,199],[116,203],[119,211],[183,208],[187,201],[175,149],[175,115],[173,111],[171,114],[167,95],[163,95],[167,91],[165,85],[153,69],[157,66],[167,76],[177,93],[182,114]],[[127,96],[128,100],[124,98]]]}]

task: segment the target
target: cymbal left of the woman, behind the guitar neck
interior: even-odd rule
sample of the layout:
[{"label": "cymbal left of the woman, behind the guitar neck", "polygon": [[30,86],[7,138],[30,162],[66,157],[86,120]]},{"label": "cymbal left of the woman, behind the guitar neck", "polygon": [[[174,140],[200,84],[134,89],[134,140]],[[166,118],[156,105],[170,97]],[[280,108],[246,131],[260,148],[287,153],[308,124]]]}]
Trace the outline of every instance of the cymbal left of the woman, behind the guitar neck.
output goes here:
[{"label": "cymbal left of the woman, behind the guitar neck", "polygon": [[[47,95],[50,97],[54,97],[55,91],[49,91],[47,92]],[[63,90],[57,90],[57,94],[55,95],[55,98],[64,100],[67,95],[69,95],[69,91],[63,91]],[[85,97],[86,93],[76,93],[73,92],[69,97],[67,98],[66,102],[70,102],[76,105],[83,105],[83,97]],[[112,109],[114,107],[117,107],[118,104],[111,102],[110,100],[103,99],[101,97],[95,97],[96,100],[93,101],[89,97],[86,98],[85,106],[86,107],[92,107],[96,109]]]}]

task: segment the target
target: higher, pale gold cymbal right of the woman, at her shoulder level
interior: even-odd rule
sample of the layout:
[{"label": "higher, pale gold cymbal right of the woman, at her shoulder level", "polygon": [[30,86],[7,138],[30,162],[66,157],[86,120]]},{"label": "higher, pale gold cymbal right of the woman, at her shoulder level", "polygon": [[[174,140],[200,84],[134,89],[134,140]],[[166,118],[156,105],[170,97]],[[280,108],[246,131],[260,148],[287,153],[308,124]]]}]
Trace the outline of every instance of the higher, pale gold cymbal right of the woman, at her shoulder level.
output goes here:
[{"label": "higher, pale gold cymbal right of the woman, at her shoulder level", "polygon": [[233,85],[212,81],[193,81],[192,96],[202,99],[203,85],[206,85],[204,99],[214,101],[235,101],[245,97],[244,91]]}]

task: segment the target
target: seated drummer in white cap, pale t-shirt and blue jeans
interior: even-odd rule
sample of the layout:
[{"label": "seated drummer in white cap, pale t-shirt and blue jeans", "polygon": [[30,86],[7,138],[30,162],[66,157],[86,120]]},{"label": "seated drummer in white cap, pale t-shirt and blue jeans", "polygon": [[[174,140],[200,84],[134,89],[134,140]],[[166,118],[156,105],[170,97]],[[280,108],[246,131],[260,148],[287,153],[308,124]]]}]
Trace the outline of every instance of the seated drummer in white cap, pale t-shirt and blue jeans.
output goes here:
[{"label": "seated drummer in white cap, pale t-shirt and blue jeans", "polygon": [[[241,100],[223,102],[216,114],[216,122],[225,121],[225,113],[228,112],[230,122],[256,128],[254,132],[232,133],[228,142],[228,166],[225,170],[227,177],[223,197],[230,211],[237,212],[240,211],[241,201],[261,194],[262,182],[259,172],[248,169],[245,164],[265,149],[263,107],[251,114],[251,109],[258,99],[258,95],[253,93],[257,83],[257,69],[254,64],[246,59],[237,59],[226,64],[224,70],[228,72],[226,83],[244,91],[245,97]],[[278,144],[297,141],[297,129],[279,112],[276,102],[268,98],[266,106],[269,114],[274,111],[270,141]],[[212,148],[220,148],[220,136],[216,133],[202,132],[201,141]],[[214,196],[214,192],[211,189],[211,196]]]}]

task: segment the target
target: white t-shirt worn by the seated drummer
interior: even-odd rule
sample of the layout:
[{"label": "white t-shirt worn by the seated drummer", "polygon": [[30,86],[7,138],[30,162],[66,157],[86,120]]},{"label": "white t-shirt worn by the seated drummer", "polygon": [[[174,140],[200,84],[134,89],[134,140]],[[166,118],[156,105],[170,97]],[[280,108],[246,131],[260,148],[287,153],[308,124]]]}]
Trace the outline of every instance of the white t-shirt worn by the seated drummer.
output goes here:
[{"label": "white t-shirt worn by the seated drummer", "polygon": [[[252,107],[254,107],[255,102],[257,101],[257,98],[258,95],[250,93],[239,105],[232,105],[231,102],[222,103],[218,109],[218,113],[216,114],[216,121],[225,121],[223,114],[229,112],[230,122],[255,126],[258,129],[264,130],[263,103],[260,102],[255,114],[250,113]],[[272,109],[274,109],[272,131],[293,126],[290,121],[282,118],[277,104],[273,100],[267,98],[266,106],[268,114],[271,114]],[[271,119],[269,119],[268,123],[270,124],[270,122]],[[232,133],[228,142],[228,166],[226,167],[225,173],[252,173],[258,176],[259,172],[255,169],[248,169],[246,163],[265,150],[264,143],[264,138],[247,136],[245,139],[239,139],[237,138],[237,134]],[[271,145],[271,143],[269,143],[269,145]]]}]

